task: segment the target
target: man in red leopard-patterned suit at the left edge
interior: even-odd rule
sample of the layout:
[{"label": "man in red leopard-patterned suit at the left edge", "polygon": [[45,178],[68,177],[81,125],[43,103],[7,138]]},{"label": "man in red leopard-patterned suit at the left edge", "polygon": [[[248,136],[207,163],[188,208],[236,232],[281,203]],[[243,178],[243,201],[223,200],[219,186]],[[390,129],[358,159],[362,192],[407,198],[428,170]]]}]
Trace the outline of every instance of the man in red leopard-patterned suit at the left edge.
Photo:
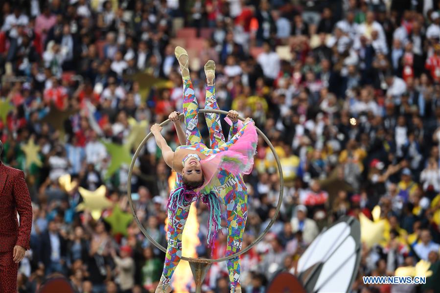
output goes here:
[{"label": "man in red leopard-patterned suit at the left edge", "polygon": [[[0,155],[3,145],[0,141]],[[17,220],[20,216],[20,225]],[[24,173],[0,161],[0,292],[17,292],[18,263],[29,249],[32,205]]]}]

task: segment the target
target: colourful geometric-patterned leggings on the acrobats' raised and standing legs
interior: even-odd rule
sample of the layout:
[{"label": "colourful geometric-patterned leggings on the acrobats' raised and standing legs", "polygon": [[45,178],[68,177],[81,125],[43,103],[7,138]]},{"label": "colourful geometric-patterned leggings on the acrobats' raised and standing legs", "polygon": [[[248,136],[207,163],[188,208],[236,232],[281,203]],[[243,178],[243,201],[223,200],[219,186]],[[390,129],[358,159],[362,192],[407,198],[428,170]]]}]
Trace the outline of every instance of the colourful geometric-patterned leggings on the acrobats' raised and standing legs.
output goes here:
[{"label": "colourful geometric-patterned leggings on the acrobats' raised and standing legs", "polygon": [[[198,110],[199,105],[194,95],[191,81],[184,80],[184,114],[186,125],[186,144],[194,145],[202,142],[198,127]],[[218,109],[215,99],[215,88],[207,87],[205,109]],[[225,142],[225,137],[220,124],[220,115],[207,113],[205,115],[209,128],[210,148],[217,148]],[[238,131],[237,123],[233,123],[229,133],[232,138]],[[217,189],[220,197],[226,206],[227,224],[228,224],[228,244],[226,248],[226,256],[229,256],[241,249],[243,231],[247,218],[247,189],[246,184],[241,176],[233,176],[226,170],[221,170],[218,179],[220,185]],[[179,183],[177,183],[179,184]],[[176,269],[182,257],[182,232],[185,222],[189,214],[191,202],[179,206],[174,219],[171,219],[168,213],[168,247],[165,256],[165,264],[161,281],[163,284],[170,282],[171,276]],[[228,261],[229,279],[231,287],[239,286],[240,281],[240,260],[238,257]]]}]

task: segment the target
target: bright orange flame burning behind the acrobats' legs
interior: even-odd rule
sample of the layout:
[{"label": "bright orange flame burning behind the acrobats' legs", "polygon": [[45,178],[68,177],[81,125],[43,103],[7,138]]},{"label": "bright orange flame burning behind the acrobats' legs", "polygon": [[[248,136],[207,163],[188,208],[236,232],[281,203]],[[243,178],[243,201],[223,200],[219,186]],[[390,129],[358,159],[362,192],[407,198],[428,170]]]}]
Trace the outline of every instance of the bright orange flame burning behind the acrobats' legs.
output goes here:
[{"label": "bright orange flame burning behind the acrobats' legs", "polygon": [[[176,174],[173,172],[168,180],[170,189],[174,186]],[[168,230],[168,219],[165,220],[165,232]],[[199,223],[197,222],[197,208],[195,203],[191,203],[188,218],[184,232],[182,234],[182,255],[186,257],[197,257],[196,247],[200,245],[198,237]],[[195,283],[192,276],[191,268],[187,261],[181,260],[172,278],[172,287],[174,292],[189,293],[188,287],[191,291],[195,290]]]}]

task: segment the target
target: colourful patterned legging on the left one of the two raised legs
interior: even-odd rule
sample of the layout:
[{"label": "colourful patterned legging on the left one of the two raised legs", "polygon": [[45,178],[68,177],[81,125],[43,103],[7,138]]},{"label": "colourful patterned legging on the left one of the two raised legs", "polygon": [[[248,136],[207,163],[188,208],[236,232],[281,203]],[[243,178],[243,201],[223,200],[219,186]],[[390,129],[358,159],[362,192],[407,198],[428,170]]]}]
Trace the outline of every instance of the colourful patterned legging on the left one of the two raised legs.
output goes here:
[{"label": "colourful patterned legging on the left one of the two raised legs", "polygon": [[199,104],[197,103],[194,89],[190,79],[183,79],[184,103],[183,110],[186,126],[186,144],[193,145],[202,142],[202,135],[199,131]]}]

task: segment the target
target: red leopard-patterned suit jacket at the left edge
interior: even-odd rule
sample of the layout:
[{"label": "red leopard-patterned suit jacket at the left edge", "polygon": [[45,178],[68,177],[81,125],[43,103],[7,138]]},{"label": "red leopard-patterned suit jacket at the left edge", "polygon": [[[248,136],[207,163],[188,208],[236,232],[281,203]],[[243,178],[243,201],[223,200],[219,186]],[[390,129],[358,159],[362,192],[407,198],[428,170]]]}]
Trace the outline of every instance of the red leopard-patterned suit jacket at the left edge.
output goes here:
[{"label": "red leopard-patterned suit jacket at the left edge", "polygon": [[[20,215],[20,226],[17,220]],[[32,205],[24,173],[0,161],[0,252],[29,249]]]}]

